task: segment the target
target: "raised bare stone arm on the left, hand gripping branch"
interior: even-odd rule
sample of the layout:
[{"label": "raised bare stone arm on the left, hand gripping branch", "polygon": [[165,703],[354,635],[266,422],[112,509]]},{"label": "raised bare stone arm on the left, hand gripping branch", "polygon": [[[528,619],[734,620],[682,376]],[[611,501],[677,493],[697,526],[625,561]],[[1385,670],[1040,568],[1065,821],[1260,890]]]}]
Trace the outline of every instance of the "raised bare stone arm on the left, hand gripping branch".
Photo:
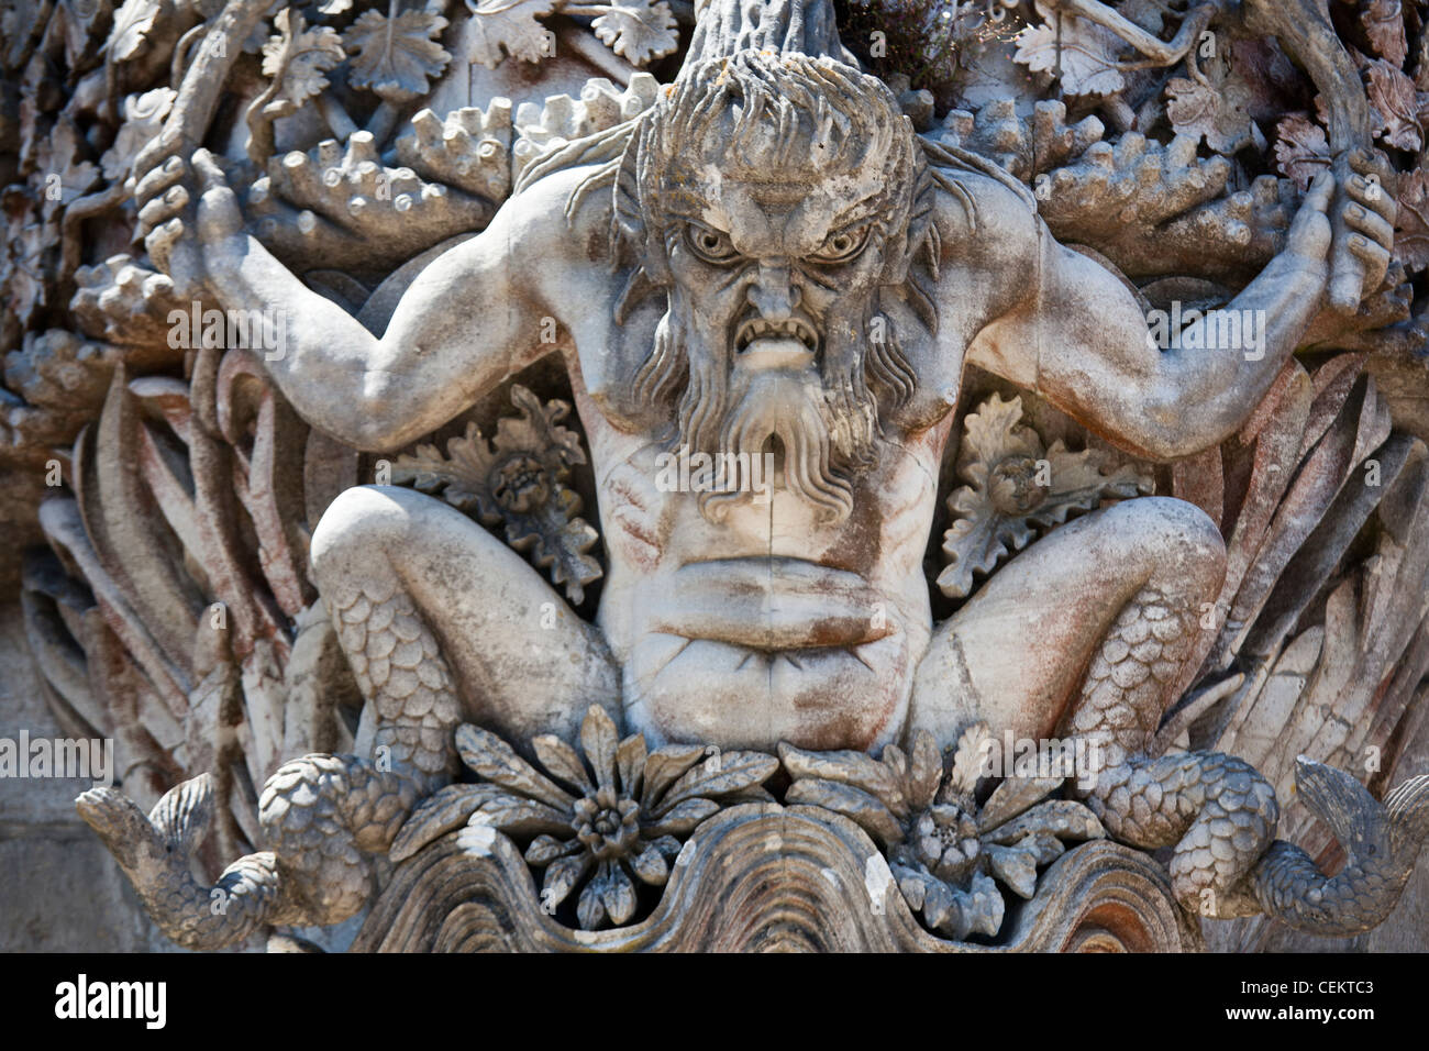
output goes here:
[{"label": "raised bare stone arm on the left, hand gripping branch", "polygon": [[[569,239],[544,229],[563,210],[539,207],[534,190],[527,207],[500,209],[483,233],[422,270],[377,337],[244,230],[207,152],[194,153],[193,174],[197,186],[183,159],[169,157],[141,179],[150,256],[180,292],[206,286],[224,309],[277,312],[283,345],[260,355],[269,375],[304,420],[349,445],[400,448],[554,349],[542,323],[560,320],[552,305],[562,272],[570,279]],[[187,207],[189,187],[197,209]]]}]

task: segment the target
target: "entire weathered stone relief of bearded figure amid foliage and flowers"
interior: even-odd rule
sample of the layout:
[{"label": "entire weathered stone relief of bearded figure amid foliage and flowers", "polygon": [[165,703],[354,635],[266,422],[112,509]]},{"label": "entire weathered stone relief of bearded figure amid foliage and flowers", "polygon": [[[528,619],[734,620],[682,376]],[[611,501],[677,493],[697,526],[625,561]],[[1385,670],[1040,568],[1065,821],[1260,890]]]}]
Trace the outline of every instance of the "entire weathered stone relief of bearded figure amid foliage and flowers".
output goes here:
[{"label": "entire weathered stone relief of bearded figure amid foliage and flowers", "polygon": [[[73,442],[79,498],[39,509],[31,649],[121,739],[79,808],[170,937],[670,947],[733,909],[759,947],[813,894],[852,915],[789,944],[1193,948],[1393,909],[1429,776],[1336,769],[1403,754],[1429,672],[1393,20],[1362,79],[1315,0],[990,4],[933,90],[827,3],[709,0],[663,87],[453,106],[539,17],[680,40],[663,3],[443,10],[114,20],[63,119],[24,67],[60,196],[14,213],[6,423]],[[986,96],[999,61],[1067,102]],[[147,260],[80,266],[106,214]],[[34,330],[64,290],[79,332]],[[1053,738],[1086,762],[986,768]]]}]

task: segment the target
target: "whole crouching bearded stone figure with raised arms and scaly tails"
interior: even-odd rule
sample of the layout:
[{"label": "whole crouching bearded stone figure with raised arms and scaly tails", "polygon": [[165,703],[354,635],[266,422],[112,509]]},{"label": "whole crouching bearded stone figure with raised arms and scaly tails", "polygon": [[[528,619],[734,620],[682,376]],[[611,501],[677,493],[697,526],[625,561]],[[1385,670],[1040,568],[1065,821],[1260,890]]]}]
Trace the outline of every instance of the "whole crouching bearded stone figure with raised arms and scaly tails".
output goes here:
[{"label": "whole crouching bearded stone figure with raised arms and scaly tails", "polygon": [[[532,164],[479,236],[410,285],[376,337],[244,232],[211,156],[160,140],[141,162],[149,249],[180,287],[282,310],[273,382],[313,426],[366,450],[427,435],[559,352],[592,446],[609,565],[597,625],[493,535],[406,489],[326,512],[313,571],[376,712],[364,756],[307,756],[262,796],[272,852],[224,872],[211,909],[187,841],[203,785],[153,824],[106,789],[80,809],[176,939],[332,924],[369,892],[413,804],[456,772],[453,734],[570,739],[592,702],[652,745],[873,751],[1059,729],[1105,758],[1089,805],[1130,845],[1175,845],[1187,908],[1268,911],[1316,931],[1379,922],[1429,825],[1429,781],[1388,808],[1333,774],[1309,785],[1352,864],[1333,881],[1273,844],[1249,765],[1150,758],[1216,598],[1225,548],[1198,508],[1130,499],[1020,553],[933,622],[923,553],[965,366],[1035,390],[1152,460],[1233,433],[1328,300],[1332,267],[1379,286],[1393,202],[1370,154],[1305,194],[1283,250],[1226,307],[1256,353],[1162,350],[1135,296],[1059,245],[995,164],[917,137],[859,71],[832,6],[712,0],[677,80],[640,117]],[[170,156],[173,154],[173,156]],[[1332,236],[1336,224],[1345,236]],[[554,319],[562,337],[539,333]],[[1203,325],[1205,322],[1196,322]],[[770,453],[775,485],[669,492],[662,455]],[[1303,778],[1302,778],[1303,781]]]}]

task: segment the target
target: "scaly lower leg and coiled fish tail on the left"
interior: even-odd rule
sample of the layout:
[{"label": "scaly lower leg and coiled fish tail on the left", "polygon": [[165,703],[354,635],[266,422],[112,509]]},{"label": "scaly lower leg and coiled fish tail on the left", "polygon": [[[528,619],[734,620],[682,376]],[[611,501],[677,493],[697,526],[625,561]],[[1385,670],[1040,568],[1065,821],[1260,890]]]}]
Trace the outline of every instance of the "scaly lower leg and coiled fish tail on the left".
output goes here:
[{"label": "scaly lower leg and coiled fish tail on the left", "polygon": [[176,786],[149,816],[109,788],[79,798],[80,815],[119,859],[160,929],[186,948],[230,945],[269,924],[327,925],[354,915],[417,799],[446,784],[460,719],[436,636],[404,592],[353,589],[333,622],[363,695],[374,705],[379,762],[306,755],[269,778],[259,821],[269,851],[224,869],[214,887],[190,871],[211,811],[206,774]]}]

